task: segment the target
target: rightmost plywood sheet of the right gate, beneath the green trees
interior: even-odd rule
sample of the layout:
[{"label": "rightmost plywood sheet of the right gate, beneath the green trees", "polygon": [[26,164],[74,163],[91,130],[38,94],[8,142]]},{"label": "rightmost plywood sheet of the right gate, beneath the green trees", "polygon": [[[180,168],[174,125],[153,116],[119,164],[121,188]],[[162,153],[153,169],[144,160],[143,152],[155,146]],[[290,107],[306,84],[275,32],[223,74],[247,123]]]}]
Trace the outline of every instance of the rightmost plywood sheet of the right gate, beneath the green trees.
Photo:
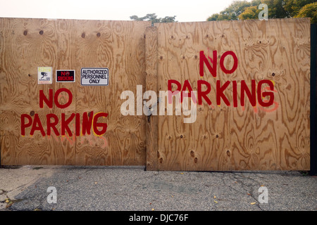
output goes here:
[{"label": "rightmost plywood sheet of the right gate, beneath the green trees", "polygon": [[232,168],[309,169],[308,21],[250,20],[235,27],[237,76],[272,80],[275,103],[232,111]]}]

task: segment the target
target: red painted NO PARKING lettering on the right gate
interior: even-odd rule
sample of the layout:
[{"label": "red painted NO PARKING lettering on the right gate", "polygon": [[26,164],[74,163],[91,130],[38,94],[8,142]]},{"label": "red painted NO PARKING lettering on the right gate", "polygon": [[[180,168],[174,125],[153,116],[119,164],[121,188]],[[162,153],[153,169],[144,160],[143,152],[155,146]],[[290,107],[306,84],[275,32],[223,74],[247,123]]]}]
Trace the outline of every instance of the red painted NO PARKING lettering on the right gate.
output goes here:
[{"label": "red painted NO PARKING lettering on the right gate", "polygon": [[[204,65],[208,68],[209,72],[213,77],[217,76],[217,51],[213,51],[213,58],[208,56],[211,63],[209,63],[208,58],[204,55],[204,51],[200,51],[199,53],[199,75],[200,77],[204,77]],[[231,69],[225,68],[224,60],[227,56],[232,56],[233,58],[233,65]],[[220,69],[225,72],[225,74],[232,74],[237,70],[238,60],[237,56],[233,51],[226,51],[220,57]],[[232,85],[232,98],[231,96],[226,96],[225,91],[228,90],[228,86]],[[173,89],[173,84],[176,85],[176,89]],[[278,103],[274,101],[274,93],[276,90],[274,89],[274,83],[271,80],[263,79],[257,82],[255,79],[251,79],[251,89],[249,85],[242,80],[240,82],[240,101],[238,101],[238,84],[237,81],[227,81],[221,84],[220,80],[216,80],[216,103],[220,105],[221,102],[225,103],[225,105],[233,107],[237,107],[238,103],[244,108],[245,105],[245,97],[249,98],[249,102],[252,106],[256,106],[256,103],[259,103],[259,107],[261,109],[267,108],[271,105],[275,105],[274,110],[277,109]],[[204,90],[204,91],[203,91]],[[192,98],[194,103],[198,103],[199,105],[202,104],[203,100],[208,104],[212,105],[211,99],[207,96],[211,92],[211,84],[204,79],[199,79],[197,81],[197,98],[196,96],[191,96],[192,85],[190,84],[189,80],[186,79],[184,84],[181,84],[175,79],[168,80],[168,91],[170,91],[170,95],[168,98],[168,102],[172,102],[172,97],[180,92],[180,101],[182,102],[182,98],[184,97],[183,94],[187,91],[187,96]],[[229,99],[232,99],[232,103],[230,103]],[[263,109],[265,110],[265,109]],[[269,111],[271,112],[271,111]]]}]

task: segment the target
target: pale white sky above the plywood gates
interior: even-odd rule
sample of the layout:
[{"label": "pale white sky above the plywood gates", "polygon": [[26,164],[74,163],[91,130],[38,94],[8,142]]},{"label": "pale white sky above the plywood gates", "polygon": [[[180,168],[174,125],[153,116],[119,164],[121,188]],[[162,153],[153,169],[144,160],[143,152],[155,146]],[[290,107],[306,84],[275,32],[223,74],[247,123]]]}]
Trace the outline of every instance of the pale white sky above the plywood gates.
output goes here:
[{"label": "pale white sky above the plywood gates", "polygon": [[233,0],[0,0],[0,17],[84,20],[130,20],[156,13],[176,15],[178,22],[206,21]]}]

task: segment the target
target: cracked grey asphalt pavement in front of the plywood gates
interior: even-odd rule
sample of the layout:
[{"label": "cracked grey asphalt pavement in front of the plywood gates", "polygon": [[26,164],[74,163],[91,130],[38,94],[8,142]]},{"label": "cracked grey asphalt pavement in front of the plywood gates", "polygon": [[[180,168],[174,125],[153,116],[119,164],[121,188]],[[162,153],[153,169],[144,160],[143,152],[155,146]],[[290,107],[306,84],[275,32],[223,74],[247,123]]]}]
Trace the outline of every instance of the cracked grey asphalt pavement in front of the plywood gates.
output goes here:
[{"label": "cracked grey asphalt pavement in front of the plywood gates", "polygon": [[[47,201],[50,186],[56,203]],[[261,186],[268,203],[259,201]],[[316,187],[316,176],[300,172],[24,166],[0,169],[0,210],[317,211]]]}]

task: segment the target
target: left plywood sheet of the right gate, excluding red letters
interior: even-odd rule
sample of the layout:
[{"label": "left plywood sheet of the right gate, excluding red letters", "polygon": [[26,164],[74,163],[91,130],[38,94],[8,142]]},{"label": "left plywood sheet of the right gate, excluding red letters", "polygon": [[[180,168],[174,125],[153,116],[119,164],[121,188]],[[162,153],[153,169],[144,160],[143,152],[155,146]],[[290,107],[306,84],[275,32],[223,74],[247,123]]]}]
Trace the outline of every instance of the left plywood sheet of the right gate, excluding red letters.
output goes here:
[{"label": "left plywood sheet of the right gate, excluding red letters", "polygon": [[[211,84],[209,98],[212,105],[197,105],[197,120],[183,122],[184,116],[159,116],[159,168],[217,169],[211,163],[228,148],[229,110],[216,107],[216,79],[205,68],[199,76],[199,51],[206,55],[217,50],[218,54],[230,50],[230,23],[177,23],[158,24],[159,31],[159,90],[167,90],[168,79],[184,84],[189,80],[197,91],[197,81],[204,79]],[[222,79],[228,75],[218,73]],[[224,78],[225,77],[225,78]],[[221,79],[220,78],[220,79]],[[213,122],[218,120],[218,123]],[[214,150],[218,149],[218,150]],[[216,162],[216,161],[215,161]]]}]

